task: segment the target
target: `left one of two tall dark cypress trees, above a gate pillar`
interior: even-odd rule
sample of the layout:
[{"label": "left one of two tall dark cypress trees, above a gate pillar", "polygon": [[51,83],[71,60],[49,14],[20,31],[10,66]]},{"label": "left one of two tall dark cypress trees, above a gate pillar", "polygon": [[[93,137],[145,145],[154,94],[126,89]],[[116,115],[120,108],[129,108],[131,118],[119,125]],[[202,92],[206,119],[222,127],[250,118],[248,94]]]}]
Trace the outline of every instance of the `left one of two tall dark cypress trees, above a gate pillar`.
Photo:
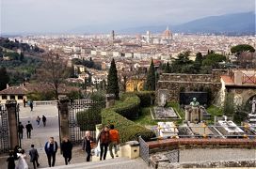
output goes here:
[{"label": "left one of two tall dark cypress trees, above a gate pillar", "polygon": [[118,70],[116,68],[115,60],[112,59],[111,66],[107,75],[107,85],[106,85],[107,94],[115,94],[116,99],[120,99],[120,87],[119,87],[119,78]]}]

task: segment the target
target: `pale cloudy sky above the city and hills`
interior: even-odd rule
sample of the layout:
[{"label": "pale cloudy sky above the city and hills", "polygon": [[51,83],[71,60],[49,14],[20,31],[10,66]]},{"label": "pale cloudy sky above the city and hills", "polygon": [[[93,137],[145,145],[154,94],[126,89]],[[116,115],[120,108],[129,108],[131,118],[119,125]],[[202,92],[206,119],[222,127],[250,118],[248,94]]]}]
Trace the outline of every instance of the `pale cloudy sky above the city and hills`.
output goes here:
[{"label": "pale cloudy sky above the city and hills", "polygon": [[[255,0],[0,0],[1,34],[175,25],[255,12]],[[88,29],[88,30],[86,30]],[[110,30],[111,30],[110,29]]]}]

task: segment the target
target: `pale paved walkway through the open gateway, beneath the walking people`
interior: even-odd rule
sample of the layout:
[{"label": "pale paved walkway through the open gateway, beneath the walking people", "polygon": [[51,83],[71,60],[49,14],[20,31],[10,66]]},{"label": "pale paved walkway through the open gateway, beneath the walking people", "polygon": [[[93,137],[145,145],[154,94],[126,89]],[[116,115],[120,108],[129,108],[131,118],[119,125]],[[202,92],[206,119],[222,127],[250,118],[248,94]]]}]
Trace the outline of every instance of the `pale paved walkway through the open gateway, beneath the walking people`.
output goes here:
[{"label": "pale paved walkway through the open gateway, beneath the walking people", "polygon": [[[43,127],[40,122],[40,127],[37,126],[37,116],[45,115],[47,118],[46,127]],[[24,130],[24,138],[22,139],[22,147],[25,150],[25,153],[28,156],[28,151],[30,146],[33,144],[38,149],[40,154],[40,168],[47,167],[47,157],[44,152],[44,144],[47,142],[48,138],[53,136],[59,145],[59,137],[58,137],[58,116],[57,116],[57,108],[56,105],[40,105],[34,107],[34,110],[31,112],[29,107],[21,107],[20,108],[20,121],[24,124],[27,124],[27,121],[30,121],[34,130],[31,132],[31,139],[26,138],[26,132]],[[0,168],[7,168],[7,160],[8,156],[0,157]],[[32,168],[32,163],[29,161],[29,156],[26,159],[29,168]],[[107,153],[106,159],[111,159],[109,153]],[[72,150],[72,163],[81,163],[85,162],[85,152],[82,151],[81,146],[74,146]],[[100,161],[99,157],[92,156],[92,161]],[[56,166],[64,165],[64,158],[58,151],[56,154]]]}]

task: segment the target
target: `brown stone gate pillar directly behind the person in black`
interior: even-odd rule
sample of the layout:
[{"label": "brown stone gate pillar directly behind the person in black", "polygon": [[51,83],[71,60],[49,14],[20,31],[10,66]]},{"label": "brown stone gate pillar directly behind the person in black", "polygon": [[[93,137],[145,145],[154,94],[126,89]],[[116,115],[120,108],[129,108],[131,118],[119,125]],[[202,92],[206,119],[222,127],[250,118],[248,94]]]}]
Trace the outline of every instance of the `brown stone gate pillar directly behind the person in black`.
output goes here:
[{"label": "brown stone gate pillar directly behind the person in black", "polygon": [[67,137],[71,139],[70,135],[70,126],[69,126],[69,98],[61,98],[58,101],[58,115],[59,115],[59,128],[60,128],[60,135],[59,140],[63,137]]}]

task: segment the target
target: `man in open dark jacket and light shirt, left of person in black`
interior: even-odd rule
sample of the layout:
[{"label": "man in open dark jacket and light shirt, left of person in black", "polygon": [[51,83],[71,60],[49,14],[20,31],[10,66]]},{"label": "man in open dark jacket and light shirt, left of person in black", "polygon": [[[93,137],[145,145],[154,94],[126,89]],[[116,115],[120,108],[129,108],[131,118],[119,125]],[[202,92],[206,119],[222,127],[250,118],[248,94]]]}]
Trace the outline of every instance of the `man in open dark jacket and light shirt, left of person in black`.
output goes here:
[{"label": "man in open dark jacket and light shirt, left of person in black", "polygon": [[[57,143],[56,143],[54,137],[50,137],[49,141],[45,143],[44,150],[47,155],[49,167],[55,166]],[[53,158],[53,161],[51,163],[52,158]]]}]

